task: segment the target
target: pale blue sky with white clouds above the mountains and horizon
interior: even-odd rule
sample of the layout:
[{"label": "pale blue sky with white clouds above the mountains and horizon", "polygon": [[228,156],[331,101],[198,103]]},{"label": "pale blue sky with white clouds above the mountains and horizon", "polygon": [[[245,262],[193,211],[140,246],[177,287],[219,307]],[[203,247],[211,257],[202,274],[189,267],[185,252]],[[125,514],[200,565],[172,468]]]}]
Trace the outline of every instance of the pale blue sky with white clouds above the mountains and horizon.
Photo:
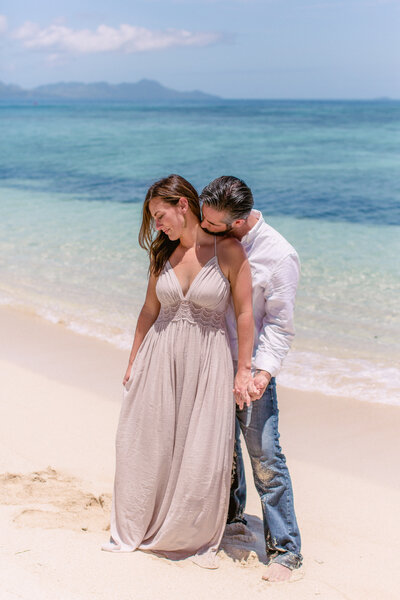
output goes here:
[{"label": "pale blue sky with white clouds above the mountains and horizon", "polygon": [[400,98],[400,0],[8,0],[0,81]]}]

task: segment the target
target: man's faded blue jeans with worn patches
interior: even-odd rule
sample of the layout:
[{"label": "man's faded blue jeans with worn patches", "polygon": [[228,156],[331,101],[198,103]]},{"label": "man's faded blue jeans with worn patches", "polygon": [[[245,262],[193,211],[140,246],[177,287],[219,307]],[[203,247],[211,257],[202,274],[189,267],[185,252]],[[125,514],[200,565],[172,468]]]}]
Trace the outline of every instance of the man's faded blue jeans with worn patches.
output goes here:
[{"label": "man's faded blue jeans with worn patches", "polygon": [[245,522],[246,480],[239,439],[242,430],[261,498],[268,556],[273,562],[296,569],[302,562],[300,531],[294,512],[292,482],[279,445],[278,414],[274,378],[259,400],[243,410],[237,409],[228,522]]}]

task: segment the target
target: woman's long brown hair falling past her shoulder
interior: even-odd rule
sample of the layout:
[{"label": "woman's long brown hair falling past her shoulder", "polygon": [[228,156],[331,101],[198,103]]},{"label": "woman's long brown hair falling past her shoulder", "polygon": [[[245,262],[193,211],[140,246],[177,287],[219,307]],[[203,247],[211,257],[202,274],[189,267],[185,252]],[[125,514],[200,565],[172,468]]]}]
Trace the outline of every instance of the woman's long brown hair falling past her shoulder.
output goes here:
[{"label": "woman's long brown hair falling past her shoulder", "polygon": [[149,187],[143,203],[142,224],[139,231],[139,244],[147,250],[150,256],[150,272],[159,275],[165,263],[179,246],[179,240],[170,240],[168,236],[159,231],[154,237],[156,228],[150,213],[150,200],[160,198],[163,202],[177,205],[179,198],[186,198],[192,213],[201,220],[199,196],[194,187],[180,175],[169,175],[160,179]]}]

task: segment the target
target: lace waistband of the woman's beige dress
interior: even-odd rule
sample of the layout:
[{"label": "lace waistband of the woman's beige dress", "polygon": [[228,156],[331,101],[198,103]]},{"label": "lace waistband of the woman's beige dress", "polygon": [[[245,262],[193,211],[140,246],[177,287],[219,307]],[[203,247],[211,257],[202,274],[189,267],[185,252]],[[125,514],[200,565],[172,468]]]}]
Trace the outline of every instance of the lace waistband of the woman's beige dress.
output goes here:
[{"label": "lace waistband of the woman's beige dress", "polygon": [[175,304],[161,306],[154,326],[161,329],[174,321],[189,321],[193,325],[225,330],[225,313],[198,306],[190,300],[180,300]]}]

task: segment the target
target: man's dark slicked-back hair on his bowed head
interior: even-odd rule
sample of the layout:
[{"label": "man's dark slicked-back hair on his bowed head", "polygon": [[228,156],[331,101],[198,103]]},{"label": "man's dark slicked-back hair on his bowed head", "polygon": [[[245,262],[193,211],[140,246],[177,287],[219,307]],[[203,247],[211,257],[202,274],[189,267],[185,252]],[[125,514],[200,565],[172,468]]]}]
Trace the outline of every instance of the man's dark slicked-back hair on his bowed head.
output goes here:
[{"label": "man's dark slicked-back hair on his bowed head", "polygon": [[215,210],[226,211],[232,221],[247,219],[254,205],[251,189],[244,181],[231,175],[218,177],[206,185],[200,201]]}]

